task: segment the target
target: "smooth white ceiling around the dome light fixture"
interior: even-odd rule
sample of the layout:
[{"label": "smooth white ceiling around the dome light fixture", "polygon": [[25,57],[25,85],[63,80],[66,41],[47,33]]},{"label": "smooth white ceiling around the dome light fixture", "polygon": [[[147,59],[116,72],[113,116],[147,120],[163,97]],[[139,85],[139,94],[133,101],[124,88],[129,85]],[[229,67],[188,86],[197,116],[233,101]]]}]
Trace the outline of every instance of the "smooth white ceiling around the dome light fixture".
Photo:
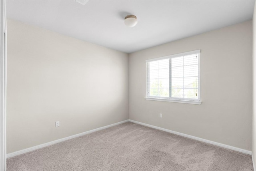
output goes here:
[{"label": "smooth white ceiling around the dome light fixture", "polygon": [[[251,20],[254,0],[8,0],[7,17],[122,52]],[[124,17],[136,15],[134,28]]]}]

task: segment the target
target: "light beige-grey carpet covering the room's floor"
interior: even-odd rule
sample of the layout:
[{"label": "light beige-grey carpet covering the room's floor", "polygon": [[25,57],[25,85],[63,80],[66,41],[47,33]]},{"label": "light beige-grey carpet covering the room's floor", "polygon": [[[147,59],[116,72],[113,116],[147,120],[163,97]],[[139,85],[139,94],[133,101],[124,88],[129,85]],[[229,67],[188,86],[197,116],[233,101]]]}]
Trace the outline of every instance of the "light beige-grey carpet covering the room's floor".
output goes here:
[{"label": "light beige-grey carpet covering the room's floor", "polygon": [[252,158],[123,123],[9,158],[7,171],[253,171]]}]

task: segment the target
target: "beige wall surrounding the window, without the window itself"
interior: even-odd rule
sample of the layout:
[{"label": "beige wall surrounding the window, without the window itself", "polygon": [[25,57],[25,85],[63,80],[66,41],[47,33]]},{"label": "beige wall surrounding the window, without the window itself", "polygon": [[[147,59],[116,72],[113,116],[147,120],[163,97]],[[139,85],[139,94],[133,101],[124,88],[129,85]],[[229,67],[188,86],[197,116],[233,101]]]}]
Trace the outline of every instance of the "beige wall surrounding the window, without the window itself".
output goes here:
[{"label": "beige wall surrounding the window, without the window itself", "polygon": [[[144,99],[145,60],[198,49],[201,105]],[[252,21],[130,54],[129,118],[251,150]]]}]

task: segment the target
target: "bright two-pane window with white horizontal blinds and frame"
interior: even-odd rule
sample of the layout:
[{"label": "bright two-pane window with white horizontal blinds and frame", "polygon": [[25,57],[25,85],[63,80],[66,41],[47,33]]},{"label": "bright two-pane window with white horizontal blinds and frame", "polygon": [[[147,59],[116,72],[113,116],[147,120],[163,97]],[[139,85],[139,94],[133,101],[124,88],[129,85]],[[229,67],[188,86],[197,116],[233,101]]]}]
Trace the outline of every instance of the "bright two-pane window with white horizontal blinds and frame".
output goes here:
[{"label": "bright two-pane window with white horizontal blinds and frame", "polygon": [[200,50],[146,60],[148,100],[201,104]]}]

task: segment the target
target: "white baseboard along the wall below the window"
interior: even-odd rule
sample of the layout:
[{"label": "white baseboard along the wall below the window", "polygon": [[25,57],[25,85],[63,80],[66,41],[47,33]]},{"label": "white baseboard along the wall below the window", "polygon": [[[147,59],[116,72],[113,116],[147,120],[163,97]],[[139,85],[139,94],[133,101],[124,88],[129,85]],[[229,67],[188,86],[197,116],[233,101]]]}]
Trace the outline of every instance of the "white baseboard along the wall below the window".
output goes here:
[{"label": "white baseboard along the wall below the window", "polygon": [[207,140],[207,139],[202,139],[202,138],[195,137],[195,136],[192,136],[192,135],[187,135],[187,134],[184,134],[184,133],[179,133],[179,132],[176,132],[176,131],[171,131],[169,129],[164,129],[164,128],[161,128],[161,127],[157,127],[157,126],[154,126],[154,125],[149,125],[149,124],[138,122],[138,121],[134,121],[134,120],[131,120],[131,119],[129,119],[129,121],[133,122],[133,123],[138,123],[140,125],[144,125],[144,126],[147,126],[147,127],[152,127],[152,128],[155,128],[155,129],[159,129],[159,130],[162,130],[162,131],[173,133],[173,134],[176,134],[176,135],[180,135],[180,136],[183,136],[183,137],[195,139],[197,141],[202,141],[204,143],[209,143],[209,144],[216,145],[216,146],[219,146],[219,147],[223,147],[223,148],[226,148],[226,149],[231,149],[231,150],[234,150],[234,151],[238,151],[238,152],[241,152],[241,153],[252,155],[252,151],[249,151],[249,150],[240,149],[240,148],[233,147],[233,146],[230,146],[230,145],[226,145],[226,144],[222,144],[222,143],[217,143],[217,142],[214,142],[214,141],[210,141],[210,140]]}]

